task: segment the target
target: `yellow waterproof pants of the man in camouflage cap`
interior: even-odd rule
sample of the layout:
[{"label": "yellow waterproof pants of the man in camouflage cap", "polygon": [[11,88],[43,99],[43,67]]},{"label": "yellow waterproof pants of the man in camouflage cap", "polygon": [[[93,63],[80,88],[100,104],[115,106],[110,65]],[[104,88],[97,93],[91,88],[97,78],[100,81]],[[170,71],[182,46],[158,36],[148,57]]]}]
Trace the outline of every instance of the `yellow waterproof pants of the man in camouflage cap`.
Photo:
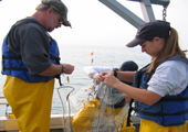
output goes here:
[{"label": "yellow waterproof pants of the man in camouflage cap", "polygon": [[19,124],[19,132],[50,132],[54,79],[27,82],[7,76],[3,94]]}]

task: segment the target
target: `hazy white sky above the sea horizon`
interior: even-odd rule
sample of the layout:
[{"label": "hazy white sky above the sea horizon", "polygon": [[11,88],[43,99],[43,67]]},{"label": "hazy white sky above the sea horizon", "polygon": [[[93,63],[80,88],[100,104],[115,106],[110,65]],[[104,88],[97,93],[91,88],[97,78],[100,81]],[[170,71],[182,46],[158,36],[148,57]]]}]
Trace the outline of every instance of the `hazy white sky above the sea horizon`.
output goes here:
[{"label": "hazy white sky above the sea horizon", "polygon": [[[72,29],[62,26],[50,33],[59,44],[124,46],[135,37],[137,29],[98,0],[62,1],[69,9],[67,19],[72,23]],[[117,1],[143,19],[139,2]],[[15,21],[33,14],[40,2],[40,0],[1,0],[0,41],[3,41]],[[178,31],[182,50],[188,50],[187,7],[188,0],[170,0],[166,16],[170,25]],[[153,4],[153,10],[156,20],[163,20],[163,7]]]}]

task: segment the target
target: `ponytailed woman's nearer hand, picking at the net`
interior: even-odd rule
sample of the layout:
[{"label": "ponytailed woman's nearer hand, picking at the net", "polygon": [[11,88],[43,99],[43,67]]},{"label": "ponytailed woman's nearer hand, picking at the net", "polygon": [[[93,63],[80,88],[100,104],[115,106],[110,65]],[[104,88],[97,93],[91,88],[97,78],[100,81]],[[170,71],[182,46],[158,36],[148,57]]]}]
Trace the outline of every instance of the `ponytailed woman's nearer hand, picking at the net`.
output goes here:
[{"label": "ponytailed woman's nearer hand, picking at the net", "polygon": [[107,86],[113,88],[115,88],[116,84],[119,81],[116,77],[114,77],[114,72],[103,72],[100,76]]}]

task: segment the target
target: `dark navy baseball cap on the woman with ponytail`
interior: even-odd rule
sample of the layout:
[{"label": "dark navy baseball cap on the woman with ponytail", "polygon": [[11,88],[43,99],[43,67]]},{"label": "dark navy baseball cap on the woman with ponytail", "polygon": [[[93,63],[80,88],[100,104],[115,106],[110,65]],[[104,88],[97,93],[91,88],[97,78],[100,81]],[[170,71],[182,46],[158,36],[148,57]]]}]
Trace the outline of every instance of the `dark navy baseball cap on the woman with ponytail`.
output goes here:
[{"label": "dark navy baseball cap on the woman with ponytail", "polygon": [[170,35],[170,23],[166,21],[155,20],[143,24],[138,28],[135,38],[126,44],[127,47],[134,47],[147,40],[154,37],[167,37]]}]

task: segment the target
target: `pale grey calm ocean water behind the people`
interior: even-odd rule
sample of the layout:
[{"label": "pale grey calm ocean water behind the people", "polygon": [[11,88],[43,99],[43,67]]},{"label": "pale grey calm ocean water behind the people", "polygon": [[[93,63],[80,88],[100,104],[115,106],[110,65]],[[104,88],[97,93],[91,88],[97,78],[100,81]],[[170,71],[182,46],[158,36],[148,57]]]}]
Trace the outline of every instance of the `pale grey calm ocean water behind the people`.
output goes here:
[{"label": "pale grey calm ocean water behind the people", "polygon": [[[93,55],[91,53],[93,52]],[[74,96],[81,88],[92,85],[92,79],[88,78],[84,72],[84,66],[106,66],[118,68],[126,61],[134,61],[140,67],[150,62],[150,56],[142,53],[140,47],[128,48],[122,46],[101,46],[101,45],[60,45],[61,62],[69,63],[75,66],[72,75],[64,75],[61,80],[64,86],[74,88],[70,96]],[[93,63],[92,63],[93,59]],[[70,82],[67,82],[67,76]],[[0,75],[0,97],[3,97],[2,87],[6,76]],[[60,87],[59,80],[55,81],[54,94],[52,100],[52,114],[62,114],[63,108],[58,94]],[[64,91],[63,91],[64,90]],[[65,91],[69,89],[61,89],[61,97],[65,97]],[[70,90],[72,90],[70,88]],[[41,95],[42,96],[42,95]],[[6,99],[0,99],[0,102],[6,102]],[[70,103],[72,107],[73,103]],[[11,109],[11,108],[9,108]],[[74,112],[74,110],[72,110]],[[6,106],[0,105],[0,116],[4,116]]]}]

